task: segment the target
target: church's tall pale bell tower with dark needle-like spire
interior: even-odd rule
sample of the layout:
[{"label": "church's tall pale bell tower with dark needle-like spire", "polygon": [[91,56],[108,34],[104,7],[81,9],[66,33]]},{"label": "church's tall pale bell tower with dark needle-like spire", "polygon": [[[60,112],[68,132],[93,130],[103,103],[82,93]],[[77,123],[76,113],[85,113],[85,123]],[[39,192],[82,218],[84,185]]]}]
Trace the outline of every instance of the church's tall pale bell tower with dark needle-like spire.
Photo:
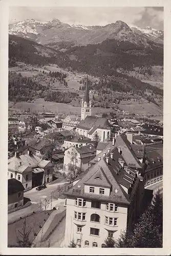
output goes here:
[{"label": "church's tall pale bell tower with dark needle-like spire", "polygon": [[84,98],[82,98],[82,103],[81,103],[81,120],[84,120],[87,116],[91,116],[91,114],[92,114],[92,104],[89,98],[89,80],[87,75],[86,90],[85,90]]}]

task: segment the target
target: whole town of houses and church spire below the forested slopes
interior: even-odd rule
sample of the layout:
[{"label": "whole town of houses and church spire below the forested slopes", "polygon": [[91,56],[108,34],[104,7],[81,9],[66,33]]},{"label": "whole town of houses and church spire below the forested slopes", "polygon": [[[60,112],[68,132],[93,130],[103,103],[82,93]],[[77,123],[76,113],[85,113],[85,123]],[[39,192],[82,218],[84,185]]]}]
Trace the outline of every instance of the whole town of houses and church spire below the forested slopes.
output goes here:
[{"label": "whole town of houses and church spire below the forested slopes", "polygon": [[162,198],[163,121],[93,115],[89,83],[78,115],[9,113],[9,247],[115,247]]}]

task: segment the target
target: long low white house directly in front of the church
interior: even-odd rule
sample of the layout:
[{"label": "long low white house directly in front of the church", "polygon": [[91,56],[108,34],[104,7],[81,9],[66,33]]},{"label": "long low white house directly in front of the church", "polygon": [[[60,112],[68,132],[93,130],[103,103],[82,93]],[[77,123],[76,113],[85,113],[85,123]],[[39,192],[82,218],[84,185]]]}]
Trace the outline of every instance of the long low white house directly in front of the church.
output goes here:
[{"label": "long low white house directly in front of the church", "polygon": [[88,144],[93,143],[90,138],[87,138],[83,135],[75,135],[72,136],[70,139],[64,139],[64,143],[62,145],[63,149],[67,149],[69,147],[75,146],[75,147],[80,147],[80,146],[86,146]]}]

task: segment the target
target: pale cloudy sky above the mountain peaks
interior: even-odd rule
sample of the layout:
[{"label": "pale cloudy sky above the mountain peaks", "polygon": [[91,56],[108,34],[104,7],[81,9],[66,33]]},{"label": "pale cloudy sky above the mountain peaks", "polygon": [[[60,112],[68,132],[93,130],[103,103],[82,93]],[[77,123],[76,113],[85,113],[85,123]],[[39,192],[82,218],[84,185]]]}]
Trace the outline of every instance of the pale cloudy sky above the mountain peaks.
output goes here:
[{"label": "pale cloudy sky above the mountain peaks", "polygon": [[129,26],[163,30],[162,7],[10,7],[9,24],[35,19],[47,22],[57,18],[70,25],[101,25],[122,20]]}]

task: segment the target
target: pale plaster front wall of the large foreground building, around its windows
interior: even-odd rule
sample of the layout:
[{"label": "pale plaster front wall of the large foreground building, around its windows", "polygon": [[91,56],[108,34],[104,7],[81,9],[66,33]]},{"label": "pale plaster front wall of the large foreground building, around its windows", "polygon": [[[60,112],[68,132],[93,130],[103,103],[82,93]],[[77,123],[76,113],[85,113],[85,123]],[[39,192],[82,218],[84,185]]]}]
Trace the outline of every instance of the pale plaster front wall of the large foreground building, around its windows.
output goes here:
[{"label": "pale plaster front wall of the large foreground building, around its windows", "polygon": [[[127,222],[127,206],[119,205],[118,212],[109,212],[105,210],[106,202],[101,202],[101,209],[91,208],[91,200],[87,201],[87,207],[77,207],[75,206],[75,199],[67,199],[67,215],[66,215],[66,231],[65,231],[65,246],[70,244],[72,239],[77,241],[81,238],[81,247],[84,247],[84,242],[89,241],[89,247],[92,247],[92,243],[96,242],[98,247],[101,247],[101,244],[104,243],[105,238],[108,236],[108,230],[113,230],[114,239],[118,239],[121,231],[126,229]],[[75,221],[74,220],[74,211],[77,212],[86,212],[85,221]],[[98,214],[100,216],[100,223],[91,222],[90,217],[92,214]],[[105,216],[118,218],[117,226],[108,226],[105,225]],[[80,233],[77,233],[77,225],[84,225],[82,227],[82,236]],[[90,234],[90,228],[98,228],[99,236],[93,236]]]}]

